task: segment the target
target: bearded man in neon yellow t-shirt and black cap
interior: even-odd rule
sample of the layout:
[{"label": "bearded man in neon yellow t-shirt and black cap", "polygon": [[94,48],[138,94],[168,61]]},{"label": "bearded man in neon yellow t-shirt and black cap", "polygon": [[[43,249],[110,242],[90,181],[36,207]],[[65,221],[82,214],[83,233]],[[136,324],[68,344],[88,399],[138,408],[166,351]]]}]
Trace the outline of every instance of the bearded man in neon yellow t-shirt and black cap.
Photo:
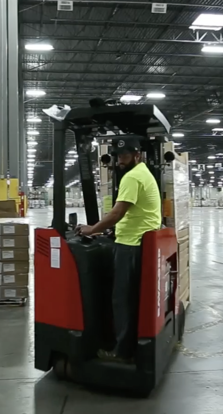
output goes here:
[{"label": "bearded man in neon yellow t-shirt and black cap", "polygon": [[117,155],[124,175],[116,203],[111,212],[94,226],[81,226],[80,233],[90,236],[115,226],[112,302],[116,347],[112,352],[100,351],[99,356],[129,360],[137,344],[140,245],[146,231],[161,227],[161,198],[154,176],[140,161],[138,140],[119,140]]}]

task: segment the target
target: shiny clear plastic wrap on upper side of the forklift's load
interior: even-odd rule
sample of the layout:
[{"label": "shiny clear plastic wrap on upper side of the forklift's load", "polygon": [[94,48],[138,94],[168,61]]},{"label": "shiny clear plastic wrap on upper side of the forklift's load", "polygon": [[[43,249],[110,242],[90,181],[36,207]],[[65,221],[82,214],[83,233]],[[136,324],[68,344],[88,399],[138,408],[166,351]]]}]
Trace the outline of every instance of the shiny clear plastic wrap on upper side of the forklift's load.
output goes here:
[{"label": "shiny clear plastic wrap on upper side of the forklift's load", "polygon": [[176,233],[189,225],[190,193],[188,166],[173,161],[174,213]]}]

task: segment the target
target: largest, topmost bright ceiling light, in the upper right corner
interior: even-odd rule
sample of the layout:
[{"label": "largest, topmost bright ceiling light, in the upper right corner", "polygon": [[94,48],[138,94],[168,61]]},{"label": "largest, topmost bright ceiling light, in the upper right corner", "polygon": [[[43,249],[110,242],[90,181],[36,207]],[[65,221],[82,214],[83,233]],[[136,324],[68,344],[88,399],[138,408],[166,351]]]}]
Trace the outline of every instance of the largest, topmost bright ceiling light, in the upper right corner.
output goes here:
[{"label": "largest, topmost bright ceiling light, in the upper right corner", "polygon": [[189,29],[218,31],[223,28],[223,14],[202,13],[192,23]]}]

